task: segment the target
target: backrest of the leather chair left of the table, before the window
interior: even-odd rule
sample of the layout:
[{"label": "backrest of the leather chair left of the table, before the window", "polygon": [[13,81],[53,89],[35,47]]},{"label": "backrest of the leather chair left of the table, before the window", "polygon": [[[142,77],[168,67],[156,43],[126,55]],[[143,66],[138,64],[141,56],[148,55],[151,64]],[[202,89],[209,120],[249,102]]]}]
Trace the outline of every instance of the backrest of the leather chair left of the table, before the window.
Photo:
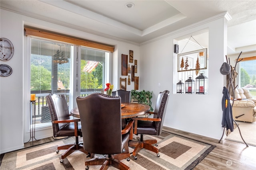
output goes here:
[{"label": "backrest of the leather chair left of the table, before the window", "polygon": [[[46,96],[46,100],[52,121],[70,119],[68,104],[63,94],[50,93]],[[57,133],[60,128],[67,124],[68,123],[52,123],[53,136],[58,137]]]}]

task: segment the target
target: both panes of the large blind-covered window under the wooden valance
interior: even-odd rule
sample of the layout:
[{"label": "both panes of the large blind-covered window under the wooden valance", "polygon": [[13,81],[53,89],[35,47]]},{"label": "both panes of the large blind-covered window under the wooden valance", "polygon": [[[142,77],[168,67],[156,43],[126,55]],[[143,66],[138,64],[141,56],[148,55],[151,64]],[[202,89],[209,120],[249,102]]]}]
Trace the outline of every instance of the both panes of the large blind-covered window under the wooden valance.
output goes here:
[{"label": "both panes of the large blind-covered window under the wooden valance", "polygon": [[109,74],[108,52],[81,46],[81,55],[77,62],[73,62],[74,45],[38,37],[31,37],[30,42],[30,93],[36,94],[36,108],[34,112],[31,111],[33,113],[30,113],[30,117],[36,119],[36,128],[52,125],[46,102],[49,93],[64,94],[68,106],[72,102],[72,98],[69,100],[69,96],[74,94],[71,87],[78,82],[71,76],[77,72],[79,61],[81,70],[80,76],[77,76],[80,82],[80,89],[78,86],[76,89],[78,95],[79,92],[80,96],[102,92]]}]

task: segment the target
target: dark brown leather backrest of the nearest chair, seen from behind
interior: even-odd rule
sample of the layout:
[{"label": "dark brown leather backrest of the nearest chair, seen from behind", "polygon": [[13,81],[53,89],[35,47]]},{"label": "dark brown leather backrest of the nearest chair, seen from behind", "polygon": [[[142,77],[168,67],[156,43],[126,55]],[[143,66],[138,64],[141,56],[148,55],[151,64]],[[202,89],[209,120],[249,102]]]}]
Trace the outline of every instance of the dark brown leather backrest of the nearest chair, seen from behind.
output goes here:
[{"label": "dark brown leather backrest of the nearest chair, seen from behind", "polygon": [[76,98],[84,150],[95,154],[122,152],[121,98],[94,93]]}]

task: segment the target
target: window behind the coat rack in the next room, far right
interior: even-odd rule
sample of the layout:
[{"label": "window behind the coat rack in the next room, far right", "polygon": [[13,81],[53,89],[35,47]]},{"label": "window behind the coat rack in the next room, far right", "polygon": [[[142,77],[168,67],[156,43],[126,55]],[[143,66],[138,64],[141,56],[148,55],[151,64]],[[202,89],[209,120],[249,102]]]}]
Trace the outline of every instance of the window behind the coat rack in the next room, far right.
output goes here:
[{"label": "window behind the coat rack in the next room, far right", "polygon": [[239,62],[239,87],[245,87],[256,98],[256,58],[248,57]]}]

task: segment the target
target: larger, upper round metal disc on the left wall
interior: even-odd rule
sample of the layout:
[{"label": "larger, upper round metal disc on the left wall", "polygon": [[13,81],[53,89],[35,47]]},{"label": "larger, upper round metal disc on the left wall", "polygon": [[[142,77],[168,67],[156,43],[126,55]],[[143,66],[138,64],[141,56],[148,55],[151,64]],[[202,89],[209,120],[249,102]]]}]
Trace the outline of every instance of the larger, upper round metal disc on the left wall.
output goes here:
[{"label": "larger, upper round metal disc on the left wall", "polygon": [[0,59],[3,61],[10,60],[13,53],[14,48],[12,42],[6,38],[0,38]]}]

